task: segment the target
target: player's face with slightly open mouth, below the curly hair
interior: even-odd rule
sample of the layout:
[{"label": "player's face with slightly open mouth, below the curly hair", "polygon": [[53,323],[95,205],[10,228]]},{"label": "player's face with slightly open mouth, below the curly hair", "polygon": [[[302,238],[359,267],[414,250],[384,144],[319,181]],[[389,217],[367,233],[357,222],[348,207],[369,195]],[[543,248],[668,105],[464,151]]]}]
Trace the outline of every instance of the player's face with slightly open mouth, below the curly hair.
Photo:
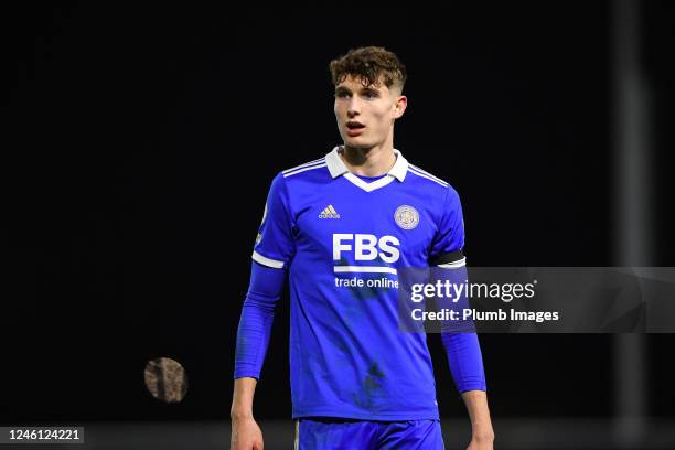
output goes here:
[{"label": "player's face with slightly open mouth, below the curly hair", "polygon": [[369,149],[386,142],[405,107],[406,97],[382,82],[364,87],[350,75],[335,86],[335,118],[347,147]]}]

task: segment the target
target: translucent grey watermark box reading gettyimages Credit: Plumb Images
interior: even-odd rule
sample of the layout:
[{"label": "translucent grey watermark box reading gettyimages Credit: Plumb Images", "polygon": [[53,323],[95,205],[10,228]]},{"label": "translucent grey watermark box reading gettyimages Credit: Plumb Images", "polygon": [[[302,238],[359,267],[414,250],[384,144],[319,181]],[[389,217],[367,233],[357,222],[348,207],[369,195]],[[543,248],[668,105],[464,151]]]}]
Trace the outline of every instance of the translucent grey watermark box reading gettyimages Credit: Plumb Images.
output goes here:
[{"label": "translucent grey watermark box reading gettyimages Credit: Plumb Images", "polygon": [[404,332],[675,333],[673,267],[399,268]]}]

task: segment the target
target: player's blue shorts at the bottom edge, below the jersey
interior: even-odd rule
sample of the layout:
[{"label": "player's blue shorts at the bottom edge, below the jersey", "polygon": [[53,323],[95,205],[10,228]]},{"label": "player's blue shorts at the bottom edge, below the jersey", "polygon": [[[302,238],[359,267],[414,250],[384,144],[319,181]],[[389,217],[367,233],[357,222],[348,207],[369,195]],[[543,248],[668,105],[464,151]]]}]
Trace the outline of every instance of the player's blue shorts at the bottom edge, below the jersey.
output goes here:
[{"label": "player's blue shorts at the bottom edge, below the jersey", "polygon": [[296,420],[294,450],[443,450],[439,420],[371,421],[334,417]]}]

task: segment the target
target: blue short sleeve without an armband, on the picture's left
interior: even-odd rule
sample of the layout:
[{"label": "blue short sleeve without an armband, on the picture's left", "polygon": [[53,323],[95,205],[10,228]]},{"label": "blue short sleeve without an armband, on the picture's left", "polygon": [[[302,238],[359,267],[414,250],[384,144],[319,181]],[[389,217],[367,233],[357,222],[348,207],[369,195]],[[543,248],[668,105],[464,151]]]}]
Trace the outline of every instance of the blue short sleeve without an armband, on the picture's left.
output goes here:
[{"label": "blue short sleeve without an armband, on the picture's left", "polygon": [[287,267],[296,249],[292,228],[288,188],[283,174],[279,173],[272,180],[267,195],[253,259],[267,267]]}]

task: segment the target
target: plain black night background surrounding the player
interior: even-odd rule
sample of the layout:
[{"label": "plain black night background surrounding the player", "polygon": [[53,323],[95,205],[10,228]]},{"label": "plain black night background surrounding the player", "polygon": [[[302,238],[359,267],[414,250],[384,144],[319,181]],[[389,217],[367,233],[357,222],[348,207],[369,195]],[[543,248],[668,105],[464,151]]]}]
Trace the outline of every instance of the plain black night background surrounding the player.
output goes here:
[{"label": "plain black night background surrounding the player", "polygon": [[[328,64],[406,63],[395,146],[449,181],[472,266],[617,264],[610,2],[242,10],[2,6],[2,424],[228,419],[234,340],[274,175],[340,143]],[[675,10],[643,2],[654,226],[673,266]],[[256,395],[290,418],[288,298]],[[441,414],[464,415],[437,336]],[[672,335],[647,336],[673,416]],[[481,336],[494,417],[609,417],[611,335]],[[181,362],[179,405],[143,385]]]}]

